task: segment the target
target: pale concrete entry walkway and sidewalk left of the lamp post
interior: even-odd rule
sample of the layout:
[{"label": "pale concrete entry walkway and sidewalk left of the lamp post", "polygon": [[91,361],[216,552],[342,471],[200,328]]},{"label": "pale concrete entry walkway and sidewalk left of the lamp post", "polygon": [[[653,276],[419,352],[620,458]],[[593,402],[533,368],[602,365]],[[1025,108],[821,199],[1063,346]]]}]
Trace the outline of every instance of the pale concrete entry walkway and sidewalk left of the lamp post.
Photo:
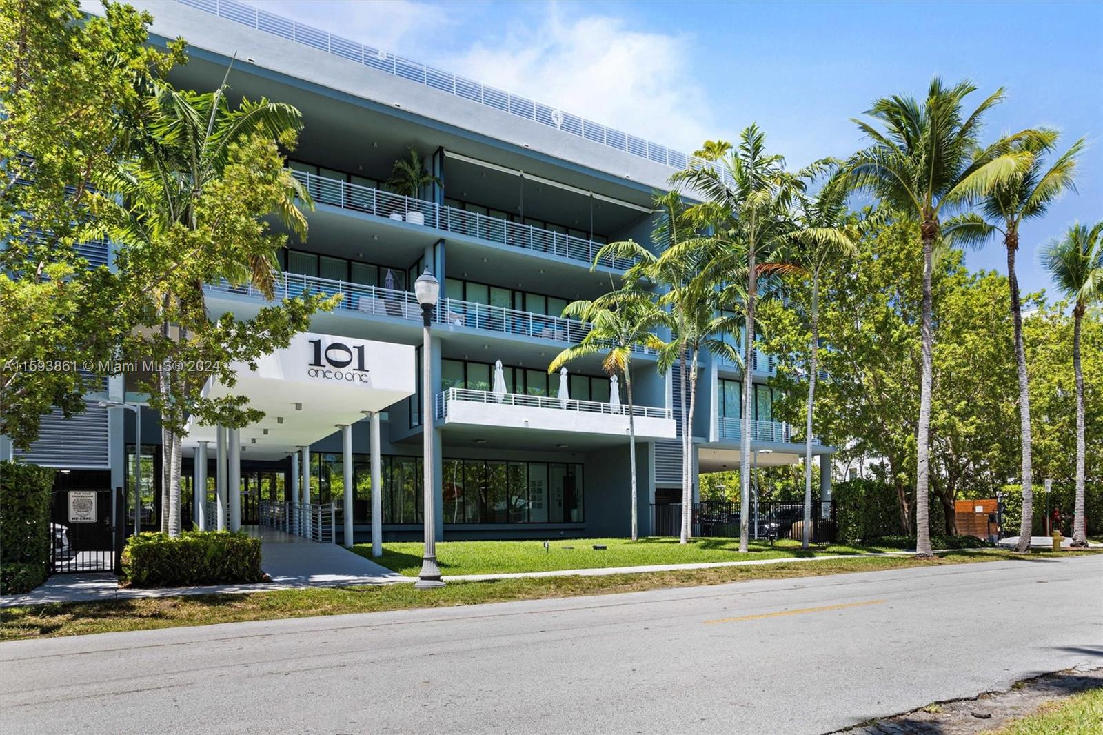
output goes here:
[{"label": "pale concrete entry walkway and sidewalk left of the lamp post", "polygon": [[120,587],[109,573],[55,574],[45,584],[22,595],[0,595],[0,608],[51,603],[90,603],[179,595],[258,593],[295,587],[343,587],[416,582],[354,554],[336,544],[321,544],[274,529],[245,526],[260,539],[260,568],[271,582],[256,585],[204,585],[200,587]]}]

